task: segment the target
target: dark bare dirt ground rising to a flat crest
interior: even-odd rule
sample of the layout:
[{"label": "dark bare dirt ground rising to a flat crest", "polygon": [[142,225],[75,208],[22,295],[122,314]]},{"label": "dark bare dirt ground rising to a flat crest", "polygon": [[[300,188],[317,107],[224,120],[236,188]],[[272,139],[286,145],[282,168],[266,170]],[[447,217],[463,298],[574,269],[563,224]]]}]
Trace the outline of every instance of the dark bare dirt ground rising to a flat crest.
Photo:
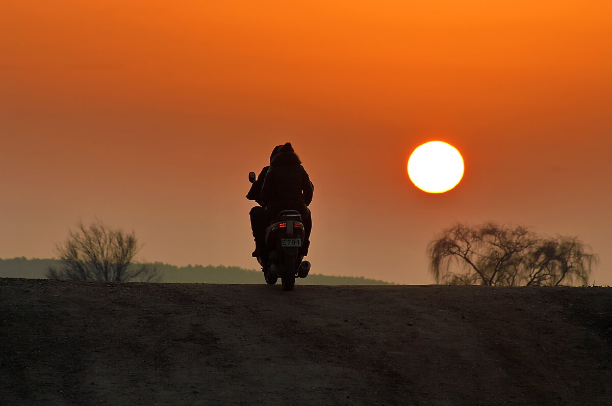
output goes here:
[{"label": "dark bare dirt ground rising to a flat crest", "polygon": [[611,288],[0,278],[0,343],[1,405],[612,404]]}]

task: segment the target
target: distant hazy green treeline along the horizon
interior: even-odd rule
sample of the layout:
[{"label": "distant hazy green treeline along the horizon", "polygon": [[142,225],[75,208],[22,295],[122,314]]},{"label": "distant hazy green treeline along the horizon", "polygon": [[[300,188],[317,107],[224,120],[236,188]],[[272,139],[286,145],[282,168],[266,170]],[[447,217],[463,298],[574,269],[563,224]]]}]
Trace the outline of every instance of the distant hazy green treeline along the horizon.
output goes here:
[{"label": "distant hazy green treeline along the horizon", "polygon": [[[0,259],[0,278],[30,278],[46,279],[48,267],[60,266],[56,259],[27,259],[18,257],[12,259]],[[170,283],[237,283],[237,284],[260,284],[264,283],[261,271],[248,270],[239,267],[214,267],[208,265],[187,265],[176,267],[175,265],[154,262],[151,265],[163,273],[162,282]],[[280,283],[280,282],[278,282]],[[299,279],[300,284],[308,285],[389,285],[389,282],[376,279],[366,279],[363,276],[327,276],[310,274],[306,279]]]}]

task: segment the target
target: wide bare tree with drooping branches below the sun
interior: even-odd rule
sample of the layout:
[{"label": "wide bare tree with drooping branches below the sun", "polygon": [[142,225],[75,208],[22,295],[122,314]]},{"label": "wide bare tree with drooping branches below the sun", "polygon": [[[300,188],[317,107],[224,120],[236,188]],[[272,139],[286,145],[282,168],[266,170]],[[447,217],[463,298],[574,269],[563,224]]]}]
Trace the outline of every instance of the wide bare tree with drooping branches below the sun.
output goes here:
[{"label": "wide bare tree with drooping branches below the sun", "polygon": [[523,226],[455,224],[427,246],[438,283],[486,286],[588,284],[597,256],[575,237],[540,237]]}]

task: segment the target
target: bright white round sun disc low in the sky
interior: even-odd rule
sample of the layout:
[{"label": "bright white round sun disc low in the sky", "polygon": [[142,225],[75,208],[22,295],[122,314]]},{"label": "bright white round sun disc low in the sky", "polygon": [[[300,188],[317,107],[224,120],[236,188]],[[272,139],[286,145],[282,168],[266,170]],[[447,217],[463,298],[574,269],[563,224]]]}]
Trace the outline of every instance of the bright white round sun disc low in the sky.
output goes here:
[{"label": "bright white round sun disc low in the sky", "polygon": [[463,157],[450,144],[431,141],[417,147],[408,159],[408,176],[420,190],[444,193],[463,177]]}]

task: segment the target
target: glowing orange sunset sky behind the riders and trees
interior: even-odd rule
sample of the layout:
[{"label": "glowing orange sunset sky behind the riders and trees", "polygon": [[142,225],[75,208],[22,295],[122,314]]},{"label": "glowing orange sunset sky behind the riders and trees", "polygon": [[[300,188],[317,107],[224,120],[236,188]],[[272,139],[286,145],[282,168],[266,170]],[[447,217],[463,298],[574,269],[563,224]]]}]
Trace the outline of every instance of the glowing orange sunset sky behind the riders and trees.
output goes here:
[{"label": "glowing orange sunset sky behind the riders and trees", "polygon": [[[610,2],[329,3],[4,2],[0,257],[97,216],[147,260],[255,268],[247,172],[291,141],[313,272],[430,283],[427,242],[493,220],[577,235],[612,284]],[[450,193],[406,175],[432,139]]]}]

